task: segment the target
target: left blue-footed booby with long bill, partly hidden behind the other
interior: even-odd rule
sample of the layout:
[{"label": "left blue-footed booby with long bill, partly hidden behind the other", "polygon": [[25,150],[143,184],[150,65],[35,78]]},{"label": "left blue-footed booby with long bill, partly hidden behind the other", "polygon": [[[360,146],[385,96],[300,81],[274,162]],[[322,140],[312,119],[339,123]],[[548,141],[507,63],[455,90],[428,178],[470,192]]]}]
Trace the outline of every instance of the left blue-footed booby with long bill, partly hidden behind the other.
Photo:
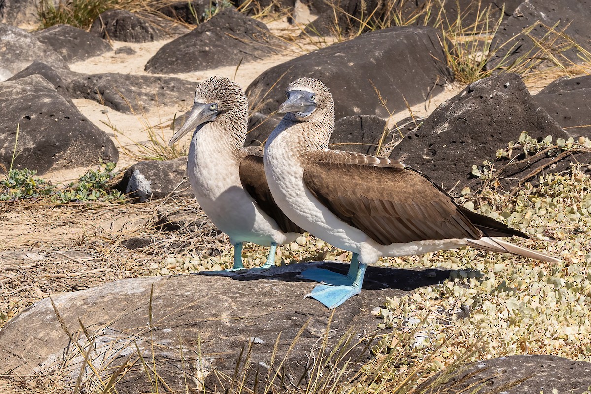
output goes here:
[{"label": "left blue-footed booby with long bill, partly hidden behind the other", "polygon": [[193,132],[187,175],[203,211],[234,245],[233,269],[243,269],[242,243],[270,246],[267,262],[275,265],[275,249],[295,240],[300,227],[279,209],[265,178],[263,158],[244,148],[248,102],[242,87],[211,77],[195,89],[193,109],[173,135],[173,145]]}]

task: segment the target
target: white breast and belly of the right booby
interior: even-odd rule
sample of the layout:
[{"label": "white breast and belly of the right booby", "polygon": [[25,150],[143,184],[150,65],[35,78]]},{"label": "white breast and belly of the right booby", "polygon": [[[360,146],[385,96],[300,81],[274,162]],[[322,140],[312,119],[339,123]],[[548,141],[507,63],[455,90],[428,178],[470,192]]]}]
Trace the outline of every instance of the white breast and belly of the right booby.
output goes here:
[{"label": "white breast and belly of the right booby", "polygon": [[[343,222],[313,196],[303,181],[304,170],[297,165],[293,149],[275,132],[265,146],[265,173],[277,205],[298,226],[312,235],[359,254],[359,261],[375,263],[380,256],[407,256],[454,249],[463,240],[421,241],[380,245],[356,227]],[[343,180],[343,187],[347,187]]]}]

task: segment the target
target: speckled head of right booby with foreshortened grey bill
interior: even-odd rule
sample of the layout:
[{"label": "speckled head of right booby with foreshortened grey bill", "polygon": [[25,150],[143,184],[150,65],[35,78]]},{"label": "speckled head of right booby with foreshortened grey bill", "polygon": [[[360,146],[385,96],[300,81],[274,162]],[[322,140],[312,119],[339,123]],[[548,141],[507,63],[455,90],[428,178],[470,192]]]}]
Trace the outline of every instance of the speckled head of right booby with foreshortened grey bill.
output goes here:
[{"label": "speckled head of right booby with foreshortened grey bill", "polygon": [[291,113],[298,121],[311,121],[323,116],[334,117],[335,103],[325,84],[313,78],[300,78],[285,89],[287,100],[277,112]]}]

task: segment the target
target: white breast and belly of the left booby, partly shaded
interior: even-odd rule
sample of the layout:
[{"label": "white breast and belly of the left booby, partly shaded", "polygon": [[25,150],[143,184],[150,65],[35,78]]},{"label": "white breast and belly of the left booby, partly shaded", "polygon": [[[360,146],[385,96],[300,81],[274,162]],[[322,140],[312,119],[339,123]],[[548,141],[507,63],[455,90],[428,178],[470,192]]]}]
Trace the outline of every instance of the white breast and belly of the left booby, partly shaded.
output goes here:
[{"label": "white breast and belly of the left booby, partly shaded", "polygon": [[194,133],[187,161],[191,188],[203,211],[232,243],[268,246],[271,242],[291,242],[297,235],[286,237],[242,188],[238,159],[210,124]]}]

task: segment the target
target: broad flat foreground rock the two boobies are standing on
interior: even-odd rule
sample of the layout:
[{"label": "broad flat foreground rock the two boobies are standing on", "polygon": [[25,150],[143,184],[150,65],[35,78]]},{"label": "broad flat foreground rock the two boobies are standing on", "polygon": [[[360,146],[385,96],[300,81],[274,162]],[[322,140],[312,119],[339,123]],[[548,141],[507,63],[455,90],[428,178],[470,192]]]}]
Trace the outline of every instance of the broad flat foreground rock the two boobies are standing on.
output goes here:
[{"label": "broad flat foreground rock the two boobies are standing on", "polygon": [[[61,368],[64,374],[60,376],[71,382],[80,370],[90,371],[81,368],[81,352],[89,352],[86,359],[100,373],[108,369],[112,375],[118,366],[129,366],[116,379],[118,393],[154,392],[154,380],[146,376],[139,353],[148,368],[155,364],[158,380],[166,383],[167,388],[160,386],[159,392],[233,392],[231,378],[223,375],[234,375],[246,347],[238,368],[239,379],[247,374],[245,391],[253,389],[257,371],[259,387],[265,387],[269,375],[278,373],[276,382],[304,388],[308,383],[304,374],[321,356],[320,343],[329,321],[323,356],[347,335],[352,339],[345,345],[352,348],[347,370],[356,371],[359,363],[368,360],[364,350],[379,323],[371,310],[383,305],[386,297],[402,297],[409,294],[407,290],[449,277],[449,272],[434,269],[369,267],[361,294],[333,311],[313,299],[303,299],[317,284],[297,275],[314,266],[342,273],[348,269],[342,263],[308,262],[265,272],[125,279],[53,295],[55,310],[51,300],[44,299],[2,328],[0,372],[43,376]],[[56,310],[76,344],[64,333]],[[251,367],[245,371],[246,357]]]}]

